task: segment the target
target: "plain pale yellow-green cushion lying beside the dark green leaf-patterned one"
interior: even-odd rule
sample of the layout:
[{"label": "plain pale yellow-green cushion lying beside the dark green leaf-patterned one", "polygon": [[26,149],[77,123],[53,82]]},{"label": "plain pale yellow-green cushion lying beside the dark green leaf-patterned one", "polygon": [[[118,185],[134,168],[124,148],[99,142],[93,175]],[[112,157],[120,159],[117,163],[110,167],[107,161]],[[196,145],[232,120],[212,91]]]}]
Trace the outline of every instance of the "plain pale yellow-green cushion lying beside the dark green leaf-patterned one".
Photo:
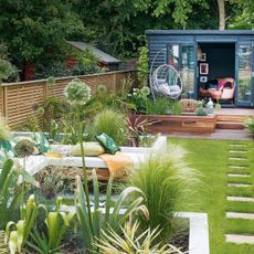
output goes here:
[{"label": "plain pale yellow-green cushion lying beside the dark green leaf-patterned one", "polygon": [[[85,156],[99,156],[105,152],[99,142],[84,142]],[[73,146],[68,152],[70,156],[81,156],[81,144]]]}]

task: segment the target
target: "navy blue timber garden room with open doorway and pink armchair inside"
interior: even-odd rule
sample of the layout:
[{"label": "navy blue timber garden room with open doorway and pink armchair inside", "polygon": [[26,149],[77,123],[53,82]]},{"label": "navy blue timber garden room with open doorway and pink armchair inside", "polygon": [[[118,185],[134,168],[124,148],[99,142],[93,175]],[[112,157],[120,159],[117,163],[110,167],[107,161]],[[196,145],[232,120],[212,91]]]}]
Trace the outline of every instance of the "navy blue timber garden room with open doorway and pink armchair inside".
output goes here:
[{"label": "navy blue timber garden room with open doorway and pink armchair inside", "polygon": [[147,30],[149,64],[172,64],[181,98],[212,97],[224,107],[254,107],[254,31]]}]

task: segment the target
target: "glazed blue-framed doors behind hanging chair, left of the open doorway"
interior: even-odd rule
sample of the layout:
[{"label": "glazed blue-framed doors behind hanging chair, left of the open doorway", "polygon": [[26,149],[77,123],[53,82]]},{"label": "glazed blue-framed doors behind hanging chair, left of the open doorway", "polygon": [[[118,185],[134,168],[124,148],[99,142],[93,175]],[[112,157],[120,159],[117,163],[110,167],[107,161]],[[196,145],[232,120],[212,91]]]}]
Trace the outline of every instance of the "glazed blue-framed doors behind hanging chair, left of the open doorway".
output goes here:
[{"label": "glazed blue-framed doors behind hanging chair, left of the open doorway", "polygon": [[172,65],[178,72],[180,72],[183,82],[181,98],[195,97],[195,73],[194,73],[195,64],[194,63],[195,63],[194,44],[172,43],[168,45],[168,64]]}]

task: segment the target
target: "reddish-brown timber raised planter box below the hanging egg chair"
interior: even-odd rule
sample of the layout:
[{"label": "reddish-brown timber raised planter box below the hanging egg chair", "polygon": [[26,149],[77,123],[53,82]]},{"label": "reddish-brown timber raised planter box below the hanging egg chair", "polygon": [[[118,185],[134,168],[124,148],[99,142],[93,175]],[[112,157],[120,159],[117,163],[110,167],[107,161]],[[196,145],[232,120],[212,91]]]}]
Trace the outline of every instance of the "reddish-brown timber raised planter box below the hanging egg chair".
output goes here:
[{"label": "reddish-brown timber raised planter box below the hanging egg chair", "polygon": [[216,127],[216,116],[161,116],[161,115],[141,115],[151,125],[147,126],[148,131],[156,134],[190,133],[209,134],[214,133]]}]

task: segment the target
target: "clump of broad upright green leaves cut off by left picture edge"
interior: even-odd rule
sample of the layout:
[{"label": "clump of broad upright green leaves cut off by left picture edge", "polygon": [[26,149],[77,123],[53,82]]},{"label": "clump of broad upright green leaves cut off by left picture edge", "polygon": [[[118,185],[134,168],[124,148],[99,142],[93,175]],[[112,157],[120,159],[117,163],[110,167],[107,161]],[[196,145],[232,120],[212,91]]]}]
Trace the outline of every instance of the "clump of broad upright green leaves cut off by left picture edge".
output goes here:
[{"label": "clump of broad upright green leaves cut off by left picture edge", "polygon": [[21,192],[17,192],[17,184],[18,173],[13,170],[13,161],[8,159],[0,173],[0,230],[6,229],[21,202]]}]

